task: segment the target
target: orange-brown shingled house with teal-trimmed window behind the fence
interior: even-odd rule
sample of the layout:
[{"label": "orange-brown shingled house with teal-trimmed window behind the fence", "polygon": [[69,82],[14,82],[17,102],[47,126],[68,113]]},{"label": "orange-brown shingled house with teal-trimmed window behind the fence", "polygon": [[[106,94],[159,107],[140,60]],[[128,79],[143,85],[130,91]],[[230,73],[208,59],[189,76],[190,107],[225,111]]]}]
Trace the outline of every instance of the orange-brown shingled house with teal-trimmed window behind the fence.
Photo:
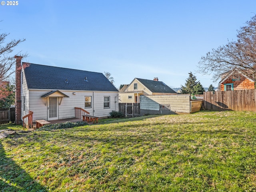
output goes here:
[{"label": "orange-brown shingled house with teal-trimmed window behind the fence", "polygon": [[254,89],[255,80],[243,74],[238,70],[233,70],[222,74],[220,81],[220,90],[242,90]]}]

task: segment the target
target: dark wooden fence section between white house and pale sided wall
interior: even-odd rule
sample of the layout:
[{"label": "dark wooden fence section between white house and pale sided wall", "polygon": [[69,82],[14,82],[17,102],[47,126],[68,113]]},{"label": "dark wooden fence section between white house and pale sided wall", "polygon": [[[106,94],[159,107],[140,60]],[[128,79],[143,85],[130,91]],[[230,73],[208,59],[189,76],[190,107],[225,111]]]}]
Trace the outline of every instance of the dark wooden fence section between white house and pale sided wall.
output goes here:
[{"label": "dark wooden fence section between white house and pale sided wall", "polygon": [[119,103],[119,111],[127,116],[140,116],[140,103]]}]

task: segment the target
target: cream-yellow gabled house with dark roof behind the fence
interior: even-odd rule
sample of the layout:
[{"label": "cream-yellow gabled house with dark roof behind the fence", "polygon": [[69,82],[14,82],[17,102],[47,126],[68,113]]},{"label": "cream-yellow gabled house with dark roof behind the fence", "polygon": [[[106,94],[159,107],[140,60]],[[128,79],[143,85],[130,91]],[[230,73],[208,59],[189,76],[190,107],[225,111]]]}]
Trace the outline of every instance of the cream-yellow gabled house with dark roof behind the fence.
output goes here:
[{"label": "cream-yellow gabled house with dark roof behind the fence", "polygon": [[158,78],[154,80],[134,78],[125,89],[119,91],[120,103],[139,103],[140,95],[173,95],[177,94]]}]

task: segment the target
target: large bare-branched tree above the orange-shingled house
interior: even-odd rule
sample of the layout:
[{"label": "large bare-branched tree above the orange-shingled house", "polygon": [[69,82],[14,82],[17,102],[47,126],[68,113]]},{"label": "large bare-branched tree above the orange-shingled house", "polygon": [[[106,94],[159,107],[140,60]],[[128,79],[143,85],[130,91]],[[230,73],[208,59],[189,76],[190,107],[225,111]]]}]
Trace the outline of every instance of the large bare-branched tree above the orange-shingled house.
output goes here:
[{"label": "large bare-branched tree above the orange-shingled house", "polygon": [[256,15],[237,30],[237,41],[212,49],[198,62],[198,72],[212,74],[216,82],[221,74],[238,70],[256,78]]}]

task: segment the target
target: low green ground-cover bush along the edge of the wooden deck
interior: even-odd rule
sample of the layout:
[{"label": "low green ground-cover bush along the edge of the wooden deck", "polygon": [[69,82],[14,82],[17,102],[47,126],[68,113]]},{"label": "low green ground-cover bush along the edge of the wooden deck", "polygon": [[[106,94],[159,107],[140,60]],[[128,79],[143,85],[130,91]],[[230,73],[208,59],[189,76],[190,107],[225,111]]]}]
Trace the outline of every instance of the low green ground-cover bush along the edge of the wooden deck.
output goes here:
[{"label": "low green ground-cover bush along the edge of the wooden deck", "polygon": [[37,130],[45,130],[45,131],[50,131],[50,130],[55,130],[55,129],[67,129],[67,128],[72,128],[72,127],[79,127],[79,126],[84,126],[88,125],[86,122],[65,122],[65,123],[56,123],[56,124],[47,124],[42,127],[40,127]]}]

